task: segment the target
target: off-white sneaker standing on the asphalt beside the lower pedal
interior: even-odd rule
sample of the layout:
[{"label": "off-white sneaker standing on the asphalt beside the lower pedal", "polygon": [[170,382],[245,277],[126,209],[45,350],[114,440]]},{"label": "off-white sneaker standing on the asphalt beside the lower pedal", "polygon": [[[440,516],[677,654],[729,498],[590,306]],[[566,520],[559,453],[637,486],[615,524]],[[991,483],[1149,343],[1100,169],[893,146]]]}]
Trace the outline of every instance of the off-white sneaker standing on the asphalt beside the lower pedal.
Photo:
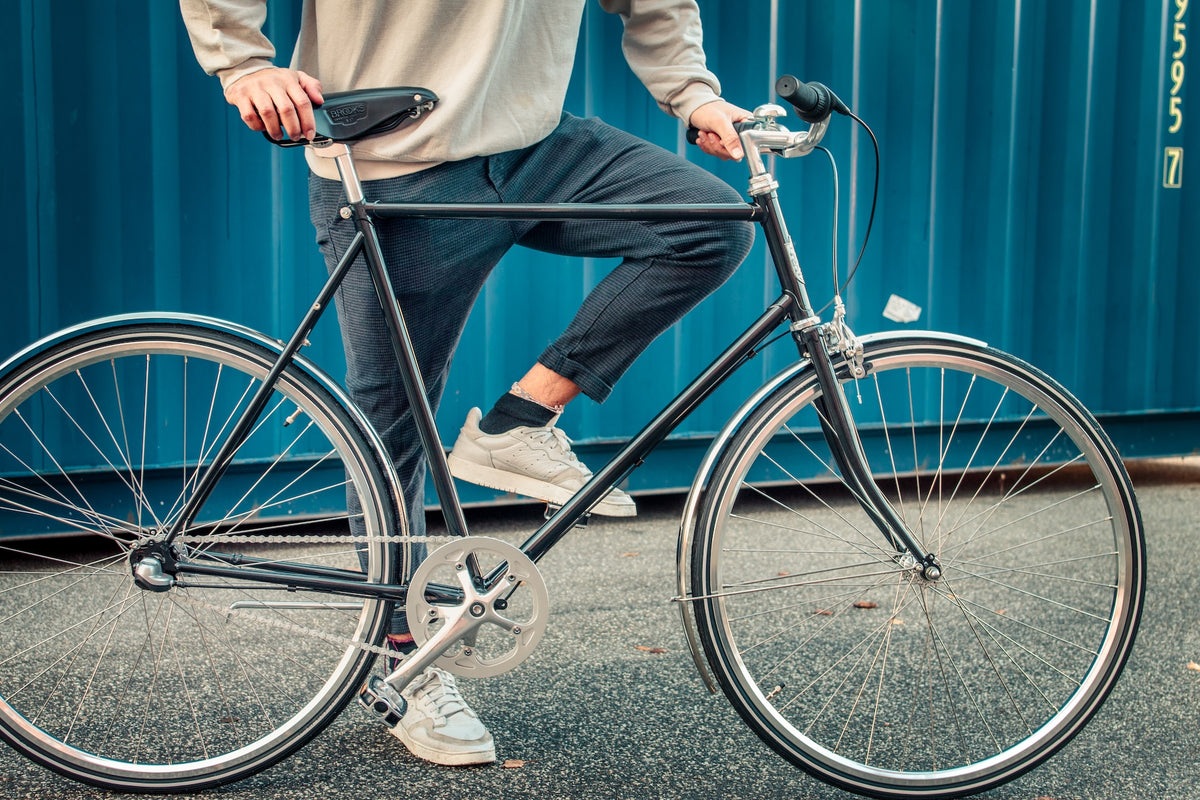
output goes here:
[{"label": "off-white sneaker standing on the asphalt beside the lower pedal", "polygon": [[462,699],[454,675],[430,667],[401,696],[408,700],[408,710],[391,734],[410,753],[446,766],[496,760],[492,734]]}]

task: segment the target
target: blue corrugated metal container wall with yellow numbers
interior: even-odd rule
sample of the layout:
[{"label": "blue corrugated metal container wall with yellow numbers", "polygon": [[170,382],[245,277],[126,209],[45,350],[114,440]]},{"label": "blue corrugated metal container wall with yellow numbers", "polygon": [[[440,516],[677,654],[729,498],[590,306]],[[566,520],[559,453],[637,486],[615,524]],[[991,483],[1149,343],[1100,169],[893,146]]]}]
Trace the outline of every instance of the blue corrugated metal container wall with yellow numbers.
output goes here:
[{"label": "blue corrugated metal container wall with yellow numbers", "polygon": [[[276,42],[290,41],[296,5],[271,4]],[[709,62],[730,100],[772,101],[775,76],[793,72],[833,86],[880,137],[878,218],[846,297],[857,330],[896,327],[881,312],[899,294],[924,308],[917,325],[985,338],[1058,377],[1111,417],[1127,455],[1200,449],[1190,162],[1181,186],[1164,186],[1180,175],[1169,174],[1168,148],[1200,154],[1200,76],[1180,82],[1186,67],[1171,66],[1189,58],[1175,58],[1175,0],[701,6]],[[0,60],[18,95],[4,113],[8,157],[0,160],[0,357],[65,325],[127,311],[187,311],[288,332],[324,277],[302,158],[242,128],[196,65],[175,4],[12,0],[0,23]],[[619,37],[619,19],[589,4],[569,110],[604,116],[744,188],[740,166],[688,152],[679,126],[625,67]],[[1176,132],[1172,90],[1183,120]],[[866,222],[874,161],[845,120],[826,143],[840,164],[845,273]],[[828,164],[780,168],[810,290],[826,297]],[[605,269],[526,252],[505,259],[458,351],[439,415],[445,438],[470,405],[491,403],[523,373]],[[772,281],[758,243],[605,405],[569,409],[563,425],[586,459],[635,433],[774,295]],[[332,320],[310,353],[341,374]],[[706,437],[788,355],[778,348],[749,367],[634,474],[632,488],[686,485]]]}]

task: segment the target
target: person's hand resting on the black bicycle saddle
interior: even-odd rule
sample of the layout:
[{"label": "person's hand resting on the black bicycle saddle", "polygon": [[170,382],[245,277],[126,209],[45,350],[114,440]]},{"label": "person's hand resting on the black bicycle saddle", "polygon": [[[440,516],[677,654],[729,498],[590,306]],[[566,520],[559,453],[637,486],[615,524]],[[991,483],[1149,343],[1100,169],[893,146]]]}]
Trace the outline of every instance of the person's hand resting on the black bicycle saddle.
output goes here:
[{"label": "person's hand resting on the black bicycle saddle", "polygon": [[271,67],[234,80],[226,100],[238,107],[251,131],[266,131],[272,139],[312,139],[317,134],[313,103],[320,106],[320,82],[299,70]]}]

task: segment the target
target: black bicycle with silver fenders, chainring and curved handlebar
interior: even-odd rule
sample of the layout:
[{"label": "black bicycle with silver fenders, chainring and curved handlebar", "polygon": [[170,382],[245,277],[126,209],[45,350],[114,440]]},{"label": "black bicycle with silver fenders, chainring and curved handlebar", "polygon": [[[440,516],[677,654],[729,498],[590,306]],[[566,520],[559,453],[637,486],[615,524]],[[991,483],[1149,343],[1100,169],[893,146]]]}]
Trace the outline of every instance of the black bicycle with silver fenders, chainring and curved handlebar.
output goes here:
[{"label": "black bicycle with silver fenders, chainring and curved handlebar", "polygon": [[[704,681],[784,758],[862,794],[982,792],[1062,747],[1112,688],[1142,608],[1145,542],[1120,456],[1019,359],[948,333],[858,337],[840,295],[822,321],[763,156],[812,152],[830,112],[850,112],[820,84],[776,89],[809,127],[788,131],[774,104],[742,126],[749,203],[653,206],[371,203],[348,143],[431,113],[437,97],[331,95],[322,136],[281,144],[337,163],[358,234],[287,342],[133,314],[11,357],[0,510],[78,539],[72,552],[0,545],[2,738],[96,786],[192,790],[286,758],[354,697],[394,724],[398,690],[431,663],[514,668],[546,625],[536,561],[731,373],[791,341],[794,362],[715,437],[684,507],[674,600]],[[761,227],[781,288],[515,547],[467,535],[384,277],[372,221],[388,215],[744,219]],[[360,257],[445,515],[448,541],[415,570],[377,435],[300,354]],[[154,386],[181,399],[160,402]],[[60,452],[95,469],[68,471]],[[812,469],[852,512],[800,480]],[[364,533],[347,533],[346,507]],[[400,606],[421,646],[371,676]]]}]

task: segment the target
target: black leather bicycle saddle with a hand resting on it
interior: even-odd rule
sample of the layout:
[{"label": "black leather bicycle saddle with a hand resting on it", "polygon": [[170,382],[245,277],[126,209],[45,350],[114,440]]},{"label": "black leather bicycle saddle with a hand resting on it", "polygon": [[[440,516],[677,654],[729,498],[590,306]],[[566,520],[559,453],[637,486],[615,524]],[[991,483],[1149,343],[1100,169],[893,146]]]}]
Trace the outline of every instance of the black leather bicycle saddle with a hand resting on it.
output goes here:
[{"label": "black leather bicycle saddle with a hand resting on it", "polygon": [[407,120],[415,120],[433,110],[437,102],[437,95],[418,86],[330,92],[325,95],[325,102],[313,109],[317,137],[358,142],[391,131]]}]

